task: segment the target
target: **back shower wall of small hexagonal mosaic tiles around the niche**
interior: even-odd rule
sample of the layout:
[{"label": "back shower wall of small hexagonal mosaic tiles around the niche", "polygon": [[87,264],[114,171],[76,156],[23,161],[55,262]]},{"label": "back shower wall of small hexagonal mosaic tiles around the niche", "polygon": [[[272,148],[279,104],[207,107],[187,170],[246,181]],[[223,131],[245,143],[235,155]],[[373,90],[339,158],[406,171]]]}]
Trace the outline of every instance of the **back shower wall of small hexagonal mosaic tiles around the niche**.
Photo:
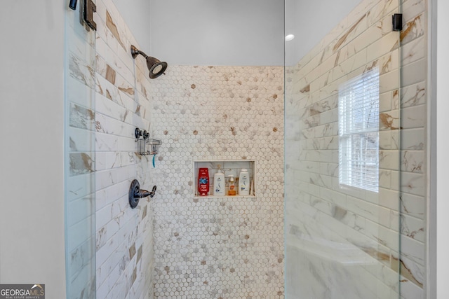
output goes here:
[{"label": "back shower wall of small hexagonal mosaic tiles around the niche", "polygon": [[[284,298],[283,67],[171,65],[151,95],[155,298]],[[256,197],[194,196],[194,160],[242,159]]]}]

